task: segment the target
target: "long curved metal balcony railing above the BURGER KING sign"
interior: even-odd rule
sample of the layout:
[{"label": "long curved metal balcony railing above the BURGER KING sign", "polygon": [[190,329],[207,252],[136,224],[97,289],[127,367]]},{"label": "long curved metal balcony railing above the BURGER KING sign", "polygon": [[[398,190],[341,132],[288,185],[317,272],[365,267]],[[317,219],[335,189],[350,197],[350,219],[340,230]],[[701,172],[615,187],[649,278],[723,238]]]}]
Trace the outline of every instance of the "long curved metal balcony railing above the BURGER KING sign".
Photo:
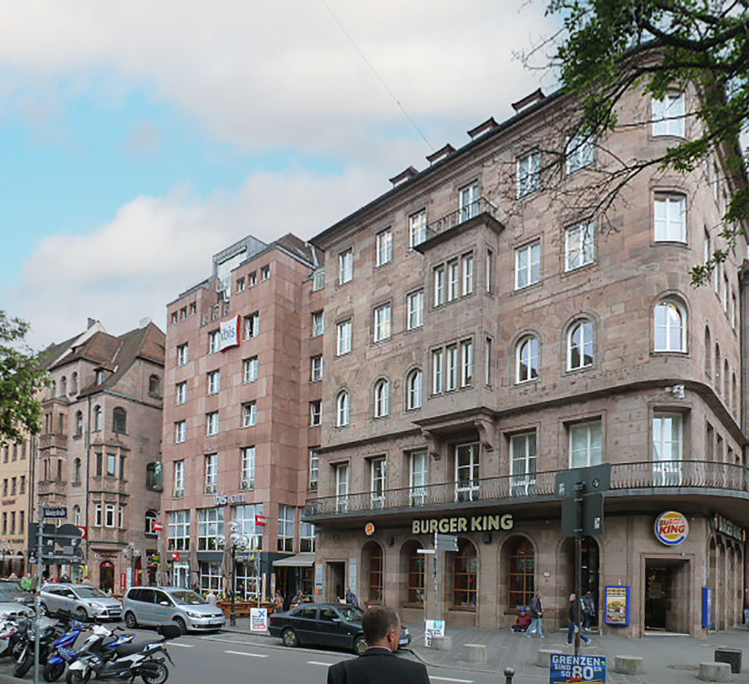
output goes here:
[{"label": "long curved metal balcony railing above the BURGER KING sign", "polygon": [[[357,511],[413,509],[422,506],[461,505],[469,501],[509,500],[519,503],[530,497],[554,497],[557,473],[503,475],[473,482],[443,482],[386,489],[374,493],[362,491],[345,496],[310,500],[304,515],[335,515]],[[749,468],[715,461],[637,461],[611,464],[611,490],[640,488],[712,488],[749,491]]]}]

